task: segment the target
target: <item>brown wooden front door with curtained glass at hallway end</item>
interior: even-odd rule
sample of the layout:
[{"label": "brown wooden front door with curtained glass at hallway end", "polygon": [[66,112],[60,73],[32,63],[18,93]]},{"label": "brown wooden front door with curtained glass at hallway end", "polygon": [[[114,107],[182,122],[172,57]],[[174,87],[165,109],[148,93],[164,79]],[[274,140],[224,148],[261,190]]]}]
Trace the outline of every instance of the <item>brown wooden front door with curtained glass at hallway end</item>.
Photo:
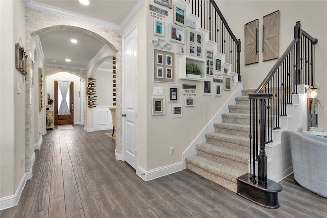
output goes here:
[{"label": "brown wooden front door with curtained glass at hallway end", "polygon": [[69,90],[67,92],[67,98],[66,98],[67,105],[71,112],[70,115],[58,115],[61,99],[62,97],[58,87],[58,81],[55,80],[55,125],[73,124],[74,123],[74,82],[71,82],[71,85],[69,85]]}]

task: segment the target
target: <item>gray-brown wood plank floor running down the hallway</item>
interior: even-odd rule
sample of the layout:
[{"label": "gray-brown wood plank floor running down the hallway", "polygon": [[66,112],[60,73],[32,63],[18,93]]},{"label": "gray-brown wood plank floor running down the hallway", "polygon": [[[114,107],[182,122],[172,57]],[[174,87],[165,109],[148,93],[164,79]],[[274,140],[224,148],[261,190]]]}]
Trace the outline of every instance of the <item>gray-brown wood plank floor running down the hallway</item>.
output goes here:
[{"label": "gray-brown wood plank floor running down the hallway", "polygon": [[0,217],[326,217],[327,198],[288,176],[278,209],[260,207],[185,169],[148,182],[115,159],[108,131],[48,130],[17,206]]}]

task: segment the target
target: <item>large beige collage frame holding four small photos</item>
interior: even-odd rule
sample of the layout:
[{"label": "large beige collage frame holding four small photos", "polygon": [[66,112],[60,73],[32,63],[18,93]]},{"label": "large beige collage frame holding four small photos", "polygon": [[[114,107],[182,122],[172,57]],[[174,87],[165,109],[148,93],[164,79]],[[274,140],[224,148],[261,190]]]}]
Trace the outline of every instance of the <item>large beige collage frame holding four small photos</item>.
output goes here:
[{"label": "large beige collage frame holding four small photos", "polygon": [[154,82],[175,82],[174,53],[154,49],[153,53],[153,81]]}]

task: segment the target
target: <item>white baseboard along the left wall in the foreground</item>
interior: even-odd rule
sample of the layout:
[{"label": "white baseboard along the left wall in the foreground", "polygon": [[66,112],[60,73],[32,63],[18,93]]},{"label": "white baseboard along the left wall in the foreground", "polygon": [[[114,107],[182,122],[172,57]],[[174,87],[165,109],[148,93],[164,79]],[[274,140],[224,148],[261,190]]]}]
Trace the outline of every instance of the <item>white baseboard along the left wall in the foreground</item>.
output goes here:
[{"label": "white baseboard along the left wall in the foreground", "polygon": [[21,196],[21,192],[25,187],[26,181],[32,178],[32,175],[33,175],[32,166],[34,164],[34,161],[35,161],[35,152],[33,153],[32,158],[31,158],[31,168],[28,172],[25,172],[24,175],[22,176],[20,183],[17,187],[16,193],[14,193],[14,195],[0,198],[0,210],[14,207],[18,204],[18,201]]}]

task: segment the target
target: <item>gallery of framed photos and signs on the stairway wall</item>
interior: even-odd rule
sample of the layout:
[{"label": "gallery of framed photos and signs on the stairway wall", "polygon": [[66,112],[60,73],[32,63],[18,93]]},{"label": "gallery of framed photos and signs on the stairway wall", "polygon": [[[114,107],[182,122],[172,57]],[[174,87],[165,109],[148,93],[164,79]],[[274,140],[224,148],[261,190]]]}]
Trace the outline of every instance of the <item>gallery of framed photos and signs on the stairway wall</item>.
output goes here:
[{"label": "gallery of framed photos and signs on the stairway wall", "polygon": [[[151,39],[153,81],[173,84],[168,86],[168,89],[165,86],[155,87],[155,90],[160,89],[161,91],[154,91],[154,95],[167,95],[168,101],[165,101],[163,96],[154,96],[151,111],[152,115],[164,115],[165,104],[172,103],[170,105],[171,118],[179,118],[182,117],[183,107],[195,106],[196,96],[199,92],[201,95],[221,96],[224,91],[229,91],[232,85],[231,66],[224,62],[224,54],[216,51],[217,44],[207,41],[209,32],[199,27],[200,18],[189,14],[187,1],[176,0],[172,4],[170,0],[154,0],[154,3],[159,5],[150,5],[150,10],[159,16],[153,17],[154,37]],[[162,9],[160,5],[171,10]],[[151,15],[154,12],[151,12]],[[173,22],[165,22],[165,17],[162,18],[162,15],[168,16],[168,13],[172,13],[169,15],[173,18]],[[192,66],[189,66],[190,62]],[[176,74],[175,66],[177,67]],[[190,67],[199,69],[200,72],[189,75]],[[201,81],[202,86],[198,86],[200,89],[196,91],[196,85],[183,84],[182,91],[180,91],[178,90],[180,82],[178,78]],[[192,88],[188,86],[192,86]],[[179,101],[182,101],[183,104],[178,104]]]}]

